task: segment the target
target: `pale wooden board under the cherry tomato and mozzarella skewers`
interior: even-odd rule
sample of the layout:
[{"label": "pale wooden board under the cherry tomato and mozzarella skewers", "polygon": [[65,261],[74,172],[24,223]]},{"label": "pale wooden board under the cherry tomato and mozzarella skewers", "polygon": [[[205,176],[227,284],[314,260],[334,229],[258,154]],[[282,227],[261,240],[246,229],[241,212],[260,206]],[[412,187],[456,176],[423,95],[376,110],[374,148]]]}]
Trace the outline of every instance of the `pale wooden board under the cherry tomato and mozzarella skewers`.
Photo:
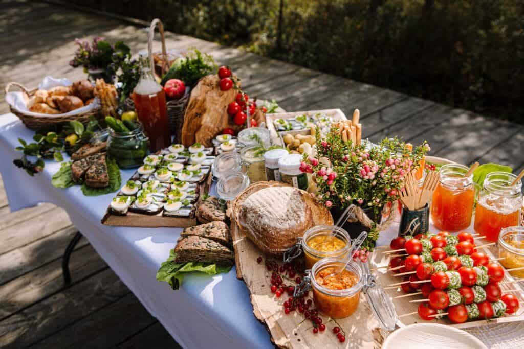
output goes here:
[{"label": "pale wooden board under the cherry tomato and mozzarella skewers", "polygon": [[[384,251],[389,251],[389,246],[380,246],[376,247],[372,257],[370,259],[370,268],[376,268],[380,266],[387,265],[389,263],[389,257],[387,257],[387,254],[383,254]],[[484,248],[483,252],[486,253],[490,258],[495,258],[494,249],[488,249]],[[377,284],[380,287],[386,287],[391,284],[399,283],[403,281],[403,278],[401,276],[394,276],[392,272],[386,272],[386,269],[378,269],[374,273],[375,279]],[[509,273],[505,273],[503,282],[506,281],[513,281],[515,278],[513,278]],[[433,322],[450,325],[455,328],[464,329],[464,328],[470,328],[470,327],[478,327],[478,326],[485,326],[489,324],[494,323],[503,323],[503,322],[514,322],[514,321],[523,321],[524,320],[524,289],[521,287],[518,283],[512,283],[512,284],[500,284],[500,288],[503,292],[503,294],[509,293],[514,296],[516,296],[519,299],[520,302],[520,309],[516,314],[505,314],[503,317],[492,319],[489,321],[486,320],[476,320],[476,321],[466,321],[464,323],[453,323],[447,317],[444,317],[443,319],[435,319]],[[507,292],[506,290],[519,290],[514,292]],[[403,297],[403,298],[393,298],[396,296],[405,295],[405,292],[403,292],[400,288],[400,286],[396,289],[385,289],[384,290],[388,296],[391,297],[395,308],[397,310],[397,314],[408,314],[412,313],[414,311],[417,311],[417,308],[420,303],[412,303],[410,300],[414,299],[424,299],[422,295],[412,296],[412,297]],[[402,317],[397,322],[397,325],[399,327],[405,327],[407,325],[411,325],[413,323],[424,323],[427,321],[422,320],[418,314],[413,314],[410,316]]]}]

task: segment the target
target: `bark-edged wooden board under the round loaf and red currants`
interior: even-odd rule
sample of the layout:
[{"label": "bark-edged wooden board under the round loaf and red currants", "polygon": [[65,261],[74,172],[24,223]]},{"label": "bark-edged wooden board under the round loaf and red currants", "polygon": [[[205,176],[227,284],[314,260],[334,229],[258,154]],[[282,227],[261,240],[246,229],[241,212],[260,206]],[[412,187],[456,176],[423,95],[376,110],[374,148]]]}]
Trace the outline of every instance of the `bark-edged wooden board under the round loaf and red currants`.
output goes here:
[{"label": "bark-edged wooden board under the round loaf and red currants", "polygon": [[[271,272],[268,272],[265,263],[257,263],[259,256],[264,257],[257,246],[245,237],[235,222],[231,223],[231,234],[235,249],[235,264],[237,278],[244,280],[250,293],[253,313],[266,326],[271,341],[279,348],[377,348],[384,341],[385,334],[378,329],[378,321],[372,315],[365,296],[361,294],[358,309],[352,316],[333,320],[320,314],[326,325],[324,332],[312,333],[312,325],[305,320],[303,314],[293,311],[285,314],[283,302],[289,296],[283,294],[276,298],[271,293]],[[285,279],[287,285],[294,286],[294,282]],[[309,292],[311,297],[312,292]],[[346,333],[346,341],[340,343],[332,329],[339,326]]]}]

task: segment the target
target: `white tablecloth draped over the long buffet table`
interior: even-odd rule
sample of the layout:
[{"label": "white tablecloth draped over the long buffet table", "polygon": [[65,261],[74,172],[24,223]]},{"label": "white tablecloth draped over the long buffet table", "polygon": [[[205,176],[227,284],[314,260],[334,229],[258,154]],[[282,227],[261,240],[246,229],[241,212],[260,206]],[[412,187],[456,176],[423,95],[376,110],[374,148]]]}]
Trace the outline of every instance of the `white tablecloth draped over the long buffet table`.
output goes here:
[{"label": "white tablecloth draped over the long buffet table", "polygon": [[[13,114],[0,118],[0,172],[12,211],[40,202],[65,209],[74,226],[182,347],[273,347],[253,315],[248,290],[236,279],[235,268],[213,277],[192,273],[177,291],[157,282],[158,267],[176,245],[181,229],[103,226],[100,220],[114,194],[86,197],[80,186],[53,187],[51,176],[60,167],[54,161],[46,161],[45,170],[34,177],[17,168],[13,164],[20,157],[14,150],[17,139],[29,142],[34,133]],[[122,171],[123,183],[133,172]]]}]

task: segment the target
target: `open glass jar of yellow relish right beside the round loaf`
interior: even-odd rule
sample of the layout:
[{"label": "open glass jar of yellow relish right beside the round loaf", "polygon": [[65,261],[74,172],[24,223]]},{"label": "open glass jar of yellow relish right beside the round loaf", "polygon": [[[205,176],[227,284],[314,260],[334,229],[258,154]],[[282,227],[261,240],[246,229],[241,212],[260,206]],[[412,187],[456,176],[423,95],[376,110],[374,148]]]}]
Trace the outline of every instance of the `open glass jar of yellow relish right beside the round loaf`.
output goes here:
[{"label": "open glass jar of yellow relish right beside the round loaf", "polygon": [[336,226],[316,226],[308,229],[302,238],[305,267],[328,257],[347,258],[351,246],[350,235]]}]

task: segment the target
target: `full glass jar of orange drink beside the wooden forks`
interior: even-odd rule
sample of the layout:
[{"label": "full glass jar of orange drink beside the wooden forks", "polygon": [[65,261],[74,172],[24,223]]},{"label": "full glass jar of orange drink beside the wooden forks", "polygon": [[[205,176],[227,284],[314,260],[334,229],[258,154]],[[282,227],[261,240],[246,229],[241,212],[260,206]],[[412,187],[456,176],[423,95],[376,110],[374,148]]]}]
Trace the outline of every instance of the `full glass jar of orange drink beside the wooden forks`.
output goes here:
[{"label": "full glass jar of orange drink beside the wooden forks", "polygon": [[471,224],[475,187],[468,167],[447,164],[440,168],[440,182],[433,192],[431,219],[437,229],[456,232]]}]

